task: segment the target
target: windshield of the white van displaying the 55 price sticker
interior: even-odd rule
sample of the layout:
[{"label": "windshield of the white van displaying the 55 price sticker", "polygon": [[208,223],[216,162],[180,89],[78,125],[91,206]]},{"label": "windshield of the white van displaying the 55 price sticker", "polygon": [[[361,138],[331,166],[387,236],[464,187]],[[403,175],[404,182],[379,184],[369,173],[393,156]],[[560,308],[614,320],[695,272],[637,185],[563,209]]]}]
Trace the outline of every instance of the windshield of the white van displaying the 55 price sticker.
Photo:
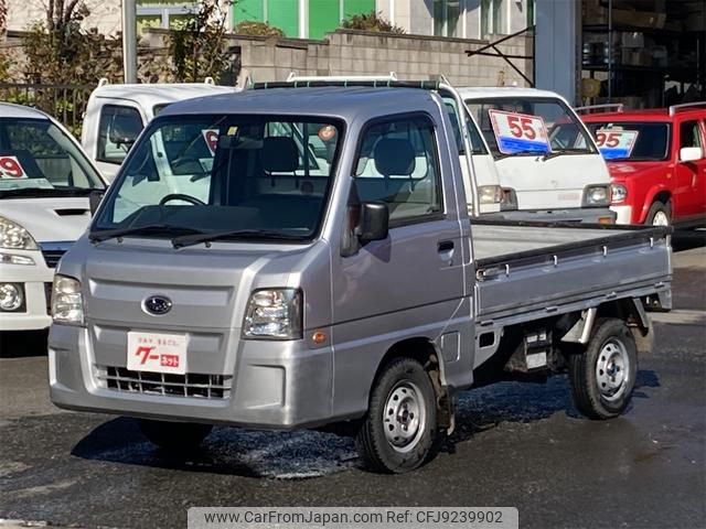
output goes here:
[{"label": "windshield of the white van displaying the 55 price sticker", "polygon": [[579,120],[559,99],[493,97],[466,104],[495,159],[596,152]]}]

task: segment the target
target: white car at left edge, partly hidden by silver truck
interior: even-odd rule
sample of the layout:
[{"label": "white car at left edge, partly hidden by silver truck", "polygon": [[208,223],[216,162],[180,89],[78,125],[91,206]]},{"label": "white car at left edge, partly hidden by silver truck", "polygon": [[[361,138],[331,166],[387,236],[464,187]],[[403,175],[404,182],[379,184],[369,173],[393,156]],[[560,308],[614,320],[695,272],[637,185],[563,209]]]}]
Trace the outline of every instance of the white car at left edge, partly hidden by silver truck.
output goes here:
[{"label": "white car at left edge, partly hidden by silver truck", "polygon": [[49,327],[54,268],[106,183],[78,142],[39,110],[0,102],[0,331]]}]

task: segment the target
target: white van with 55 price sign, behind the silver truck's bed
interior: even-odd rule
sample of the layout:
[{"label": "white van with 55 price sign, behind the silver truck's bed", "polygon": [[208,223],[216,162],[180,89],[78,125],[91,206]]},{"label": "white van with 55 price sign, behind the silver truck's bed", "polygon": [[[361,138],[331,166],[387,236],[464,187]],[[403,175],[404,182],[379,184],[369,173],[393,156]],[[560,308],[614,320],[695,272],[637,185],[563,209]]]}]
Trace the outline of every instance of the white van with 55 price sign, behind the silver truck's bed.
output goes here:
[{"label": "white van with 55 price sign, behind the silver truck's bed", "polygon": [[608,168],[566,99],[535,88],[458,91],[510,197],[504,218],[614,223]]}]

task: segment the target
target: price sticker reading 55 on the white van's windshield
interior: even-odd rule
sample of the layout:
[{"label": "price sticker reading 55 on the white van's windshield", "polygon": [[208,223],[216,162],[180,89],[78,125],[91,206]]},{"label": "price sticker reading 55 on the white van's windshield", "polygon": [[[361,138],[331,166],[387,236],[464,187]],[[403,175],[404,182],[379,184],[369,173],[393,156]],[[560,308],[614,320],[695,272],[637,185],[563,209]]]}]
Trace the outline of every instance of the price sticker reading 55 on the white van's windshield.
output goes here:
[{"label": "price sticker reading 55 on the white van's windshield", "polygon": [[549,152],[549,139],[539,116],[489,110],[498,148],[503,154],[518,152]]}]

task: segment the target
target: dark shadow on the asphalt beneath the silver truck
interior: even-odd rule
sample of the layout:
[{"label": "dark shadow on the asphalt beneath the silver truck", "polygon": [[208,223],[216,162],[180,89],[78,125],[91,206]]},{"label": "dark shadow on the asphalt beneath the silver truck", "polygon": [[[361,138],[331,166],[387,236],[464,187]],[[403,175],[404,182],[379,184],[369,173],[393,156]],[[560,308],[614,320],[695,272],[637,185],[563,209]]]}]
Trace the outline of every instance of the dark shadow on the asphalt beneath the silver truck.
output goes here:
[{"label": "dark shadow on the asphalt beneath the silver truck", "polygon": [[[654,371],[638,373],[635,399],[649,398],[644,388],[659,387]],[[456,443],[503,422],[535,422],[557,412],[580,418],[571,404],[565,376],[546,385],[501,382],[461,393],[457,429],[441,446]],[[86,460],[188,472],[274,479],[322,477],[359,466],[351,438],[318,431],[267,432],[217,427],[204,446],[188,455],[173,455],[149,443],[132,419],[103,423],[82,439],[72,455]]]}]

